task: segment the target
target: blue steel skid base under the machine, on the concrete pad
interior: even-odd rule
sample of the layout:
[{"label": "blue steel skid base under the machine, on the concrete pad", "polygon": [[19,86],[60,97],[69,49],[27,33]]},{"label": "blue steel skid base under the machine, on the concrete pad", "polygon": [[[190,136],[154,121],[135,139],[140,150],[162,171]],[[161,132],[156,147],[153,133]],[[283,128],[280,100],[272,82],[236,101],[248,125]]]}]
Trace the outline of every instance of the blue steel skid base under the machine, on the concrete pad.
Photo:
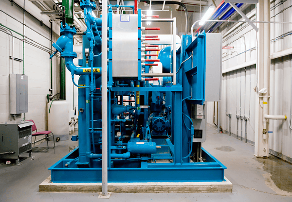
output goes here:
[{"label": "blue steel skid base under the machine, on the concrete pad", "polygon": [[[51,170],[53,183],[101,183],[102,169],[77,168],[65,164],[78,156],[78,147],[55,163]],[[147,163],[140,168],[109,168],[109,183],[133,182],[222,182],[226,167],[202,148],[202,163]],[[101,163],[101,162],[100,162]]]}]

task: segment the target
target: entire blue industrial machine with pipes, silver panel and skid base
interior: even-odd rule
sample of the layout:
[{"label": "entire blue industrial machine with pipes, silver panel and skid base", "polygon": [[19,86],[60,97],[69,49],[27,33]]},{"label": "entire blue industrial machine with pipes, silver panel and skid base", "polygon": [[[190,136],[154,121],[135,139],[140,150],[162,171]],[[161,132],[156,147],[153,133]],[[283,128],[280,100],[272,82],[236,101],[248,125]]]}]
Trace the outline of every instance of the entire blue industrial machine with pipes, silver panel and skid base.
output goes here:
[{"label": "entire blue industrial machine with pipes, silver panel and skid base", "polygon": [[[87,25],[79,61],[82,67],[73,64],[73,26],[63,21],[61,36],[53,45],[55,53],[59,51],[65,58],[73,83],[75,74],[80,78],[74,83],[78,87],[79,135],[72,137],[79,146],[49,168],[52,182],[101,182],[102,99],[108,101],[109,182],[224,181],[226,167],[201,147],[206,139],[204,101],[219,101],[221,37],[210,35],[208,42],[205,33],[194,40],[183,35],[178,50],[161,50],[162,74],[151,74],[149,69],[158,60],[147,56],[156,49],[142,34],[141,10],[114,14],[112,7],[108,36],[103,36],[101,18],[92,16],[95,1],[80,1]],[[103,37],[108,41],[107,86],[101,85]],[[101,88],[108,89],[107,97],[101,96]]]}]

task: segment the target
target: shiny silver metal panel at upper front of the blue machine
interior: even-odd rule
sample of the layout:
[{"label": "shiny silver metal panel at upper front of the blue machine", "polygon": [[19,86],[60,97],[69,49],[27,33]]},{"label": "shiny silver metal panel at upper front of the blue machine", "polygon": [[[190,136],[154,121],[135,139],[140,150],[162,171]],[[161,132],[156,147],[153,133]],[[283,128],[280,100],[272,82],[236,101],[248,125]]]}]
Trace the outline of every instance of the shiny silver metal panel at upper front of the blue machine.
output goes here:
[{"label": "shiny silver metal panel at upper front of the blue machine", "polygon": [[138,77],[138,15],[112,16],[112,76]]}]

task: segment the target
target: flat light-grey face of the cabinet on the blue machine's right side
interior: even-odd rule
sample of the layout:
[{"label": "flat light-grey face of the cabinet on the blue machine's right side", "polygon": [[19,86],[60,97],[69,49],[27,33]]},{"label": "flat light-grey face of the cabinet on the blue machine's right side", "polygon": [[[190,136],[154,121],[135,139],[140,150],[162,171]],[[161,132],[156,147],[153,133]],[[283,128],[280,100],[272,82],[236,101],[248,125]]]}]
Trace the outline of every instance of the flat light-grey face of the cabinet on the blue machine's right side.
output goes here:
[{"label": "flat light-grey face of the cabinet on the blue machine's right side", "polygon": [[222,72],[222,37],[206,33],[205,101],[220,101]]}]

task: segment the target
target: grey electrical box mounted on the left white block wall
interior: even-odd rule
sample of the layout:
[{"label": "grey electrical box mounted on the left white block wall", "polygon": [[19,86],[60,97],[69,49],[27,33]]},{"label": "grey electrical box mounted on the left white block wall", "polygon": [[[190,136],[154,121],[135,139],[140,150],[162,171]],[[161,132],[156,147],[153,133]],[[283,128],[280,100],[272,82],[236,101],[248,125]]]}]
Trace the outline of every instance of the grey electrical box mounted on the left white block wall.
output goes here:
[{"label": "grey electrical box mounted on the left white block wall", "polygon": [[27,76],[23,74],[10,74],[10,114],[28,112]]}]

